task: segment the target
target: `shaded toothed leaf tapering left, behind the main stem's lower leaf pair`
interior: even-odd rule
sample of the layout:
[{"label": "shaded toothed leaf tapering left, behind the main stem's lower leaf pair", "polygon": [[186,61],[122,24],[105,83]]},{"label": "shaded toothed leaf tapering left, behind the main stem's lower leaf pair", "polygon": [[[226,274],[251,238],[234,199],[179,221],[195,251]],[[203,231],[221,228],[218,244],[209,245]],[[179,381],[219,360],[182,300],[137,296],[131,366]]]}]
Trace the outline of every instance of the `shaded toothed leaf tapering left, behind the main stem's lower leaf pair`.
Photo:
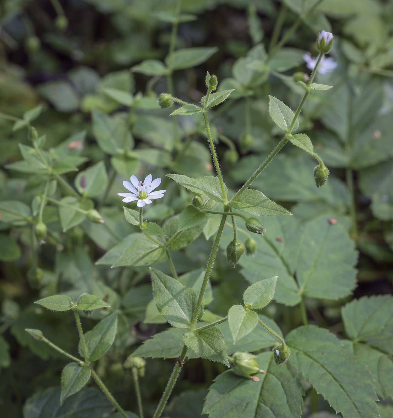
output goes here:
[{"label": "shaded toothed leaf tapering left, behind the main stem's lower leaf pair", "polygon": [[132,357],[151,357],[153,359],[173,359],[180,356],[183,349],[184,329],[170,328],[153,335],[140,345]]}]

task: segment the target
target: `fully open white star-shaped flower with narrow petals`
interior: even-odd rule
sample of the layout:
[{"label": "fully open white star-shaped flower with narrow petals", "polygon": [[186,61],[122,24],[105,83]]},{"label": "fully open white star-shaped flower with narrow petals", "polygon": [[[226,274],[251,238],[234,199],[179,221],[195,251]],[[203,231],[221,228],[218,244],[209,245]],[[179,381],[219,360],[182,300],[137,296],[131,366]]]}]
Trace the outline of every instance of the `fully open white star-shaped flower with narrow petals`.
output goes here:
[{"label": "fully open white star-shaped flower with narrow petals", "polygon": [[131,176],[129,181],[123,181],[123,186],[128,189],[131,193],[118,193],[119,196],[124,197],[123,202],[129,203],[137,200],[137,206],[142,208],[146,204],[152,203],[150,199],[160,199],[164,197],[166,190],[157,190],[158,186],[161,184],[161,178],[156,178],[153,180],[151,174],[145,177],[145,180],[139,181],[136,176]]}]

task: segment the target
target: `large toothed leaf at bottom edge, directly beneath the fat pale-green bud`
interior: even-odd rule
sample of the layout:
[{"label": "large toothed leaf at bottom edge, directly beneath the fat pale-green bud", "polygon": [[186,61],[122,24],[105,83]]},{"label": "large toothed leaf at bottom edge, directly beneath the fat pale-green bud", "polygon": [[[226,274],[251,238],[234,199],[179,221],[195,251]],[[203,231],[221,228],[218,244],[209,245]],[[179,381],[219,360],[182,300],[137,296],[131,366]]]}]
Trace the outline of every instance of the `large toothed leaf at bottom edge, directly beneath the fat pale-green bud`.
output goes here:
[{"label": "large toothed leaf at bottom edge, directly beneath the fat pale-green bud", "polygon": [[203,413],[210,418],[299,418],[304,394],[299,380],[286,364],[277,366],[271,352],[256,361],[265,371],[254,375],[259,382],[227,370],[209,387]]}]

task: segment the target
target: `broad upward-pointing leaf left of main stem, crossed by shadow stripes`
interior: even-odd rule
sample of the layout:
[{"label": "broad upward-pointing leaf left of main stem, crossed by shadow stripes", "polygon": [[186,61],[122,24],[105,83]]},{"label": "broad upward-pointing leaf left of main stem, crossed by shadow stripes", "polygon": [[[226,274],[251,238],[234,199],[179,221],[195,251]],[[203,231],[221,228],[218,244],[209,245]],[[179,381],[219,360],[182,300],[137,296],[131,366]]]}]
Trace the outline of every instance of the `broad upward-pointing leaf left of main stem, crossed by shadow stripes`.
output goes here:
[{"label": "broad upward-pointing leaf left of main stem, crossed by shadow stripes", "polygon": [[197,293],[158,270],[150,270],[158,311],[171,325],[188,328],[198,301]]}]

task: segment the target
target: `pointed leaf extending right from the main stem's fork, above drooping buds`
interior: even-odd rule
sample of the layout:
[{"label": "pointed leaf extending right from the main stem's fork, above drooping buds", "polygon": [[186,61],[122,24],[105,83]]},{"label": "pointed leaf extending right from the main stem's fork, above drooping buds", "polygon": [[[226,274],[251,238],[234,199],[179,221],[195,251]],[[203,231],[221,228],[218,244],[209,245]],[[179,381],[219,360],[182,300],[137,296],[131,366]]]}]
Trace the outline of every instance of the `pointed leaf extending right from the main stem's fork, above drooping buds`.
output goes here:
[{"label": "pointed leaf extending right from the main stem's fork, above drooping buds", "polygon": [[256,216],[290,215],[287,209],[267,198],[261,191],[246,189],[240,196],[229,202],[234,209],[243,210]]}]

